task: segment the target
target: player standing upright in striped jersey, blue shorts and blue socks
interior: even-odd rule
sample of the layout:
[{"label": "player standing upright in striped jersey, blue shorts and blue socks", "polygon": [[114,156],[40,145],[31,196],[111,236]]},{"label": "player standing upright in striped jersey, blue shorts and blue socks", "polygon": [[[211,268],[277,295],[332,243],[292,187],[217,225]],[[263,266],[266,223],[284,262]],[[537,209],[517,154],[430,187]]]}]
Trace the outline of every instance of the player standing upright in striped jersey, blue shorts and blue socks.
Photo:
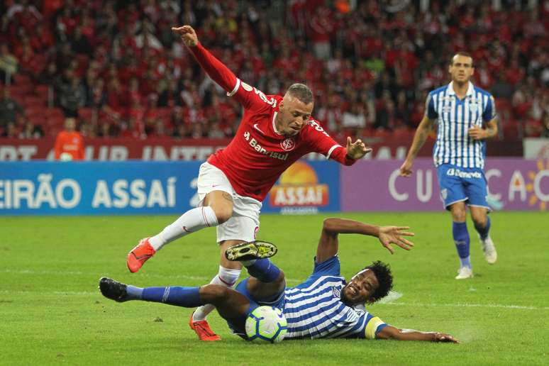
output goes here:
[{"label": "player standing upright in striped jersey, blue shorts and blue socks", "polygon": [[453,219],[452,234],[460,257],[460,270],[455,278],[467,279],[473,277],[473,272],[465,204],[475,223],[484,258],[490,264],[497,260],[496,248],[489,236],[490,207],[484,177],[485,140],[497,135],[496,106],[491,94],[470,82],[475,67],[467,52],[458,52],[452,57],[449,72],[452,82],[431,91],[427,97],[425,116],[400,171],[404,177],[412,173],[414,158],[437,124],[433,160],[440,195]]}]

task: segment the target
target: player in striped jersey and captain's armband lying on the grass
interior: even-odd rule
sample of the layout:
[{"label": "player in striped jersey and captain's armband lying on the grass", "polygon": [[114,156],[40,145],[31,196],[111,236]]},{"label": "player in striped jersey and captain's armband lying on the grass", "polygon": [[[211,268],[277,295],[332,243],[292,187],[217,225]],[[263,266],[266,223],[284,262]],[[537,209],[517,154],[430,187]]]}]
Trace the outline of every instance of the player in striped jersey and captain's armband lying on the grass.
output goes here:
[{"label": "player in striped jersey and captain's armband lying on the grass", "polygon": [[247,338],[245,321],[248,315],[257,306],[269,305],[282,309],[288,321],[284,340],[367,338],[457,343],[453,336],[444,333],[395,328],[365,310],[365,304],[382,299],[392,287],[391,271],[382,262],[368,265],[349,282],[340,274],[338,234],[375,236],[394,253],[392,244],[406,250],[414,246],[403,237],[414,235],[408,230],[408,227],[379,227],[343,218],[327,218],[318,241],[313,273],[293,288],[286,287],[284,272],[268,259],[276,253],[275,245],[255,241],[233,245],[225,252],[228,260],[242,262],[250,274],[235,289],[218,284],[143,289],[106,277],[99,280],[99,289],[104,296],[118,302],[142,300],[187,308],[214,304],[233,332],[244,339]]}]

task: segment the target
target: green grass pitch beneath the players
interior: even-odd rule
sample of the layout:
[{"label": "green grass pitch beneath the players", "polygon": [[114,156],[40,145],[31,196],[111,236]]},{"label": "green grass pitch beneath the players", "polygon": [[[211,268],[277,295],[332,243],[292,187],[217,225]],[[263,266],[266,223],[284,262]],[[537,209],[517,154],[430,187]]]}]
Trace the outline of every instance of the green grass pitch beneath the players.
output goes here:
[{"label": "green grass pitch beneath the players", "polygon": [[[340,239],[342,273],[372,260],[391,263],[392,304],[368,310],[394,326],[443,331],[459,345],[384,340],[304,340],[254,345],[232,336],[201,343],[189,330],[190,309],[133,301],[117,304],[97,289],[108,275],[139,286],[199,285],[218,267],[215,231],[168,245],[130,274],[126,253],[171,216],[0,217],[1,365],[547,365],[549,214],[492,215],[499,262],[482,258],[472,237],[475,278],[458,282],[450,216],[339,215],[379,224],[409,225],[416,248],[390,255],[375,238]],[[289,285],[306,278],[323,216],[262,216],[260,238],[277,243],[275,262]],[[515,306],[515,307],[513,307]]]}]

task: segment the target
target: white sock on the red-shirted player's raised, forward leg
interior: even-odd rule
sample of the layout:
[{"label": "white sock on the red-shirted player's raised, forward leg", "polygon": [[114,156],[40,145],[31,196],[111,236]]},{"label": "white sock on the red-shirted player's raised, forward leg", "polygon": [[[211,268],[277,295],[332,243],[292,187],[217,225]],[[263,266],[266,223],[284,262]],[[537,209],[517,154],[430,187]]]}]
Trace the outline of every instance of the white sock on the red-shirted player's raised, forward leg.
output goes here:
[{"label": "white sock on the red-shirted player's raised, forward leg", "polygon": [[182,214],[182,216],[166,226],[159,234],[149,238],[149,243],[155,250],[160,250],[165,244],[175,239],[209,226],[218,226],[214,210],[210,206],[196,207],[196,209]]}]

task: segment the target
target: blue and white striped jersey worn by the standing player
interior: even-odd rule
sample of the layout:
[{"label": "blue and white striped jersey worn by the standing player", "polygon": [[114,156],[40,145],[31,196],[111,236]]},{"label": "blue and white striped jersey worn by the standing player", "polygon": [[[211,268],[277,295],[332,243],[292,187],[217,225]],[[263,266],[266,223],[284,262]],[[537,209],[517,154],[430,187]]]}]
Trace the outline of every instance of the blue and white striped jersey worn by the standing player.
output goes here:
[{"label": "blue and white striped jersey worn by the standing player", "polygon": [[494,97],[489,92],[469,82],[464,99],[457,98],[453,82],[429,93],[426,115],[438,122],[438,133],[433,160],[435,166],[452,164],[458,167],[484,168],[486,143],[473,140],[467,134],[472,126],[482,128],[482,123],[496,118]]}]

